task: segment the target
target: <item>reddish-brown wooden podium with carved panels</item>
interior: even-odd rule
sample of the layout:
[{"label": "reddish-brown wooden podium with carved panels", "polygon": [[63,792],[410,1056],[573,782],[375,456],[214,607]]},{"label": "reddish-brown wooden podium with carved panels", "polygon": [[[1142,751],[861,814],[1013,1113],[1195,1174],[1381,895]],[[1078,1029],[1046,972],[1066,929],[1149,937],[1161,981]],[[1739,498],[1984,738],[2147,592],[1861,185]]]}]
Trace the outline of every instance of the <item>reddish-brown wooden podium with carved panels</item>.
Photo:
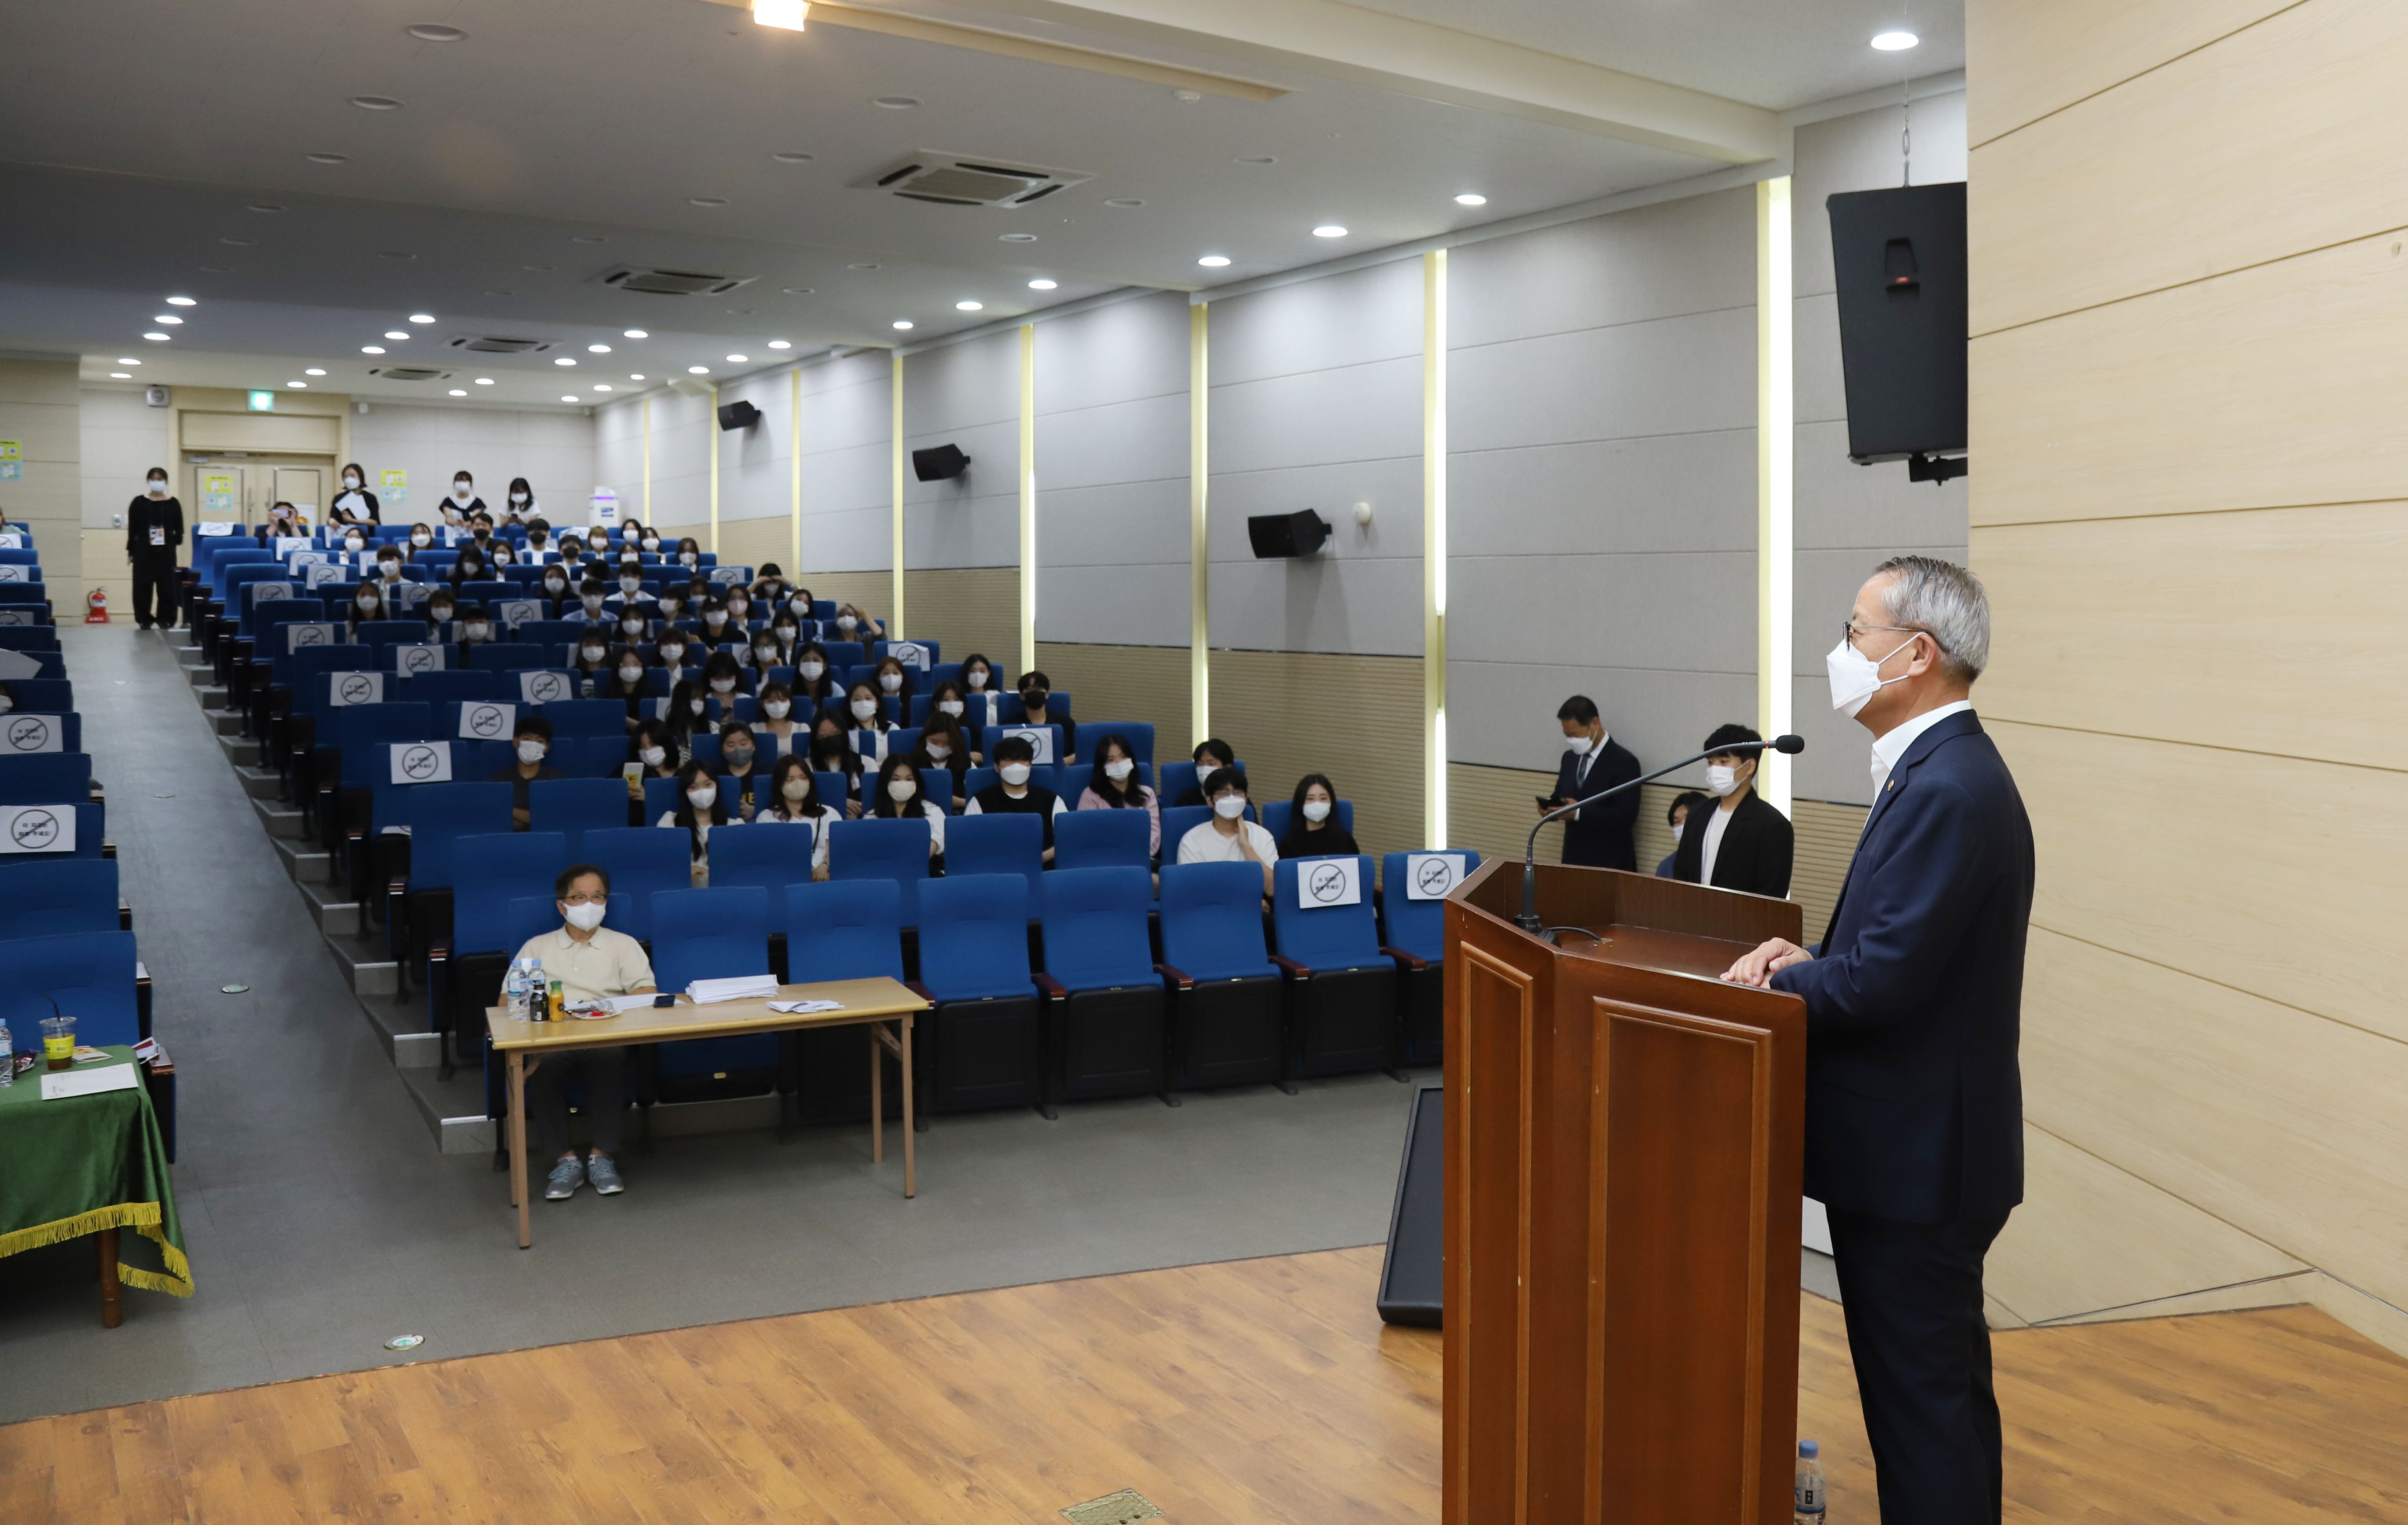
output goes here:
[{"label": "reddish-brown wooden podium with carved panels", "polygon": [[1491,858],[1447,903],[1445,1525],[1787,1525],[1799,908]]}]

